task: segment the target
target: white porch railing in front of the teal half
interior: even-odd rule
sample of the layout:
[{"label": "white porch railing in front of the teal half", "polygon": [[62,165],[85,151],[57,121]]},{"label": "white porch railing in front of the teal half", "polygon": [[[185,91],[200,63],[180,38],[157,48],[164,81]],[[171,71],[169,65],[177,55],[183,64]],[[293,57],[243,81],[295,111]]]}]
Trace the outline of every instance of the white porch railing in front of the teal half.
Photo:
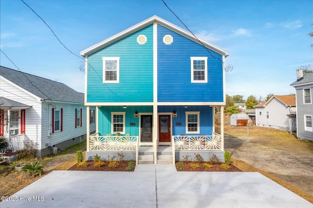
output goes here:
[{"label": "white porch railing in front of the teal half", "polygon": [[89,151],[137,151],[138,136],[89,136]]}]

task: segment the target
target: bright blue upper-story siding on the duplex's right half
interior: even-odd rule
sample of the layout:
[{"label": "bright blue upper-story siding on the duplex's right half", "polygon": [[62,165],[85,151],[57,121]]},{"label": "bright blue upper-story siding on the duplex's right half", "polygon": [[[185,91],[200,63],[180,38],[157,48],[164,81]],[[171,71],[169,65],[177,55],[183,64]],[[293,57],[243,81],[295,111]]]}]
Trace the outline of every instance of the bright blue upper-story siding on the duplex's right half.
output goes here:
[{"label": "bright blue upper-story siding on the duplex's right half", "polygon": [[[166,45],[165,35],[173,42]],[[222,55],[208,49],[223,60]],[[190,57],[207,57],[207,83],[191,83]],[[158,102],[223,102],[223,63],[199,43],[157,25]]]}]

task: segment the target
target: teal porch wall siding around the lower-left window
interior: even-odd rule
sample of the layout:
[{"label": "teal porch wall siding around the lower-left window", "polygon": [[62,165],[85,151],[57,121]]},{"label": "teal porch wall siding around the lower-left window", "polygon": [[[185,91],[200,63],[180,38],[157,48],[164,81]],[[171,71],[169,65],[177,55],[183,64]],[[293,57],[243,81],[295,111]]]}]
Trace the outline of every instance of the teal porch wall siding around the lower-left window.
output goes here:
[{"label": "teal porch wall siding around the lower-left window", "polygon": [[[126,112],[125,114],[125,134],[131,136],[139,136],[139,117],[134,117],[134,112],[138,113],[152,113],[153,106],[128,106],[124,109],[122,106],[102,106],[99,108],[98,125],[99,134],[106,136],[111,134],[111,112]],[[135,123],[135,125],[130,125]]]}]

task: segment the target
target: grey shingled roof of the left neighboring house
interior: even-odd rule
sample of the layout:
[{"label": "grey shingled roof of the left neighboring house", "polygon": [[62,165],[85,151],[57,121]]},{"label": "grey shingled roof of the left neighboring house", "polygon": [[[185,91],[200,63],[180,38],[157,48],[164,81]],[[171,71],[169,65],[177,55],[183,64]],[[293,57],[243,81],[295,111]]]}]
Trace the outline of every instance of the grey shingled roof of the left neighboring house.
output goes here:
[{"label": "grey shingled roof of the left neighboring house", "polygon": [[0,66],[0,76],[43,100],[84,103],[84,93],[77,92],[64,83],[58,83],[3,66]]}]

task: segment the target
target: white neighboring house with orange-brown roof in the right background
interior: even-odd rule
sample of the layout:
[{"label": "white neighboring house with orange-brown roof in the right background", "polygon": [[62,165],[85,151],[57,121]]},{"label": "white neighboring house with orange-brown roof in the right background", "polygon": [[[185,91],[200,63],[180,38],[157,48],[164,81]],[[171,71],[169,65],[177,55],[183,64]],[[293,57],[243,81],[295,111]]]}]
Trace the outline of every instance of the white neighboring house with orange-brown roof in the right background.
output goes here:
[{"label": "white neighboring house with orange-brown roof in the right background", "polygon": [[255,125],[295,132],[295,95],[274,95],[254,108]]}]

